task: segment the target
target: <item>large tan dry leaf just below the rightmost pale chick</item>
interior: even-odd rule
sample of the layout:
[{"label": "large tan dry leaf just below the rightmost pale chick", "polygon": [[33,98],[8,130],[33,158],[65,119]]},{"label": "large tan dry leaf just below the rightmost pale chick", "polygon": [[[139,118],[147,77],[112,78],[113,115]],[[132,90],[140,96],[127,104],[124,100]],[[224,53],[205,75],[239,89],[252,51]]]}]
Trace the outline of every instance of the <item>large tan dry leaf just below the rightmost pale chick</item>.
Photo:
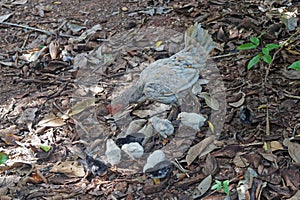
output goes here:
[{"label": "large tan dry leaf just below the rightmost pale chick", "polygon": [[[186,162],[188,165],[192,164],[192,162],[199,156],[199,155],[205,155],[210,153],[212,150],[214,150],[215,148],[217,148],[215,146],[214,142],[215,137],[214,136],[209,136],[207,138],[205,138],[204,140],[202,140],[201,142],[199,142],[198,144],[192,146],[189,151],[188,154],[186,156]],[[209,150],[208,150],[209,149]],[[204,154],[205,152],[205,154]]]}]

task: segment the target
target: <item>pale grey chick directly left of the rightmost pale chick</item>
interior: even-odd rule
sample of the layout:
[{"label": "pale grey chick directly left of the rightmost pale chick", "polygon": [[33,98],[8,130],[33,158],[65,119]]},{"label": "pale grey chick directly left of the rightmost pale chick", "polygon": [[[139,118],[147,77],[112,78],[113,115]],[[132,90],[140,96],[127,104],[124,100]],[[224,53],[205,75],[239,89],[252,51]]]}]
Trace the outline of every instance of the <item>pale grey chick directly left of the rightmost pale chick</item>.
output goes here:
[{"label": "pale grey chick directly left of the rightmost pale chick", "polygon": [[156,116],[150,119],[153,128],[164,138],[174,133],[174,127],[172,123],[167,119],[161,119]]}]

